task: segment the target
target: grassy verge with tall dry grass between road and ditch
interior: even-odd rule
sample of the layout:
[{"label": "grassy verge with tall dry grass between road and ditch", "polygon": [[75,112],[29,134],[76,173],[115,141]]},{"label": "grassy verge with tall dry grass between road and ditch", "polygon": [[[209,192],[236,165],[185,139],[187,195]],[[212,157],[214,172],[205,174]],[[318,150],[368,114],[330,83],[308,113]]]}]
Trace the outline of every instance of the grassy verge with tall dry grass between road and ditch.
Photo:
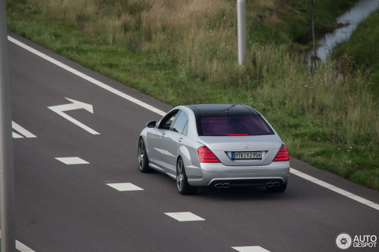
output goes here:
[{"label": "grassy verge with tall dry grass between road and ditch", "polygon": [[[317,2],[327,30],[333,11],[354,1]],[[249,104],[292,156],[379,190],[370,82],[360,74],[341,81],[330,66],[310,72],[291,49],[307,41],[294,36],[309,24],[300,3],[247,1],[246,67],[236,64],[235,1],[8,0],[7,13],[16,33],[165,103]]]}]

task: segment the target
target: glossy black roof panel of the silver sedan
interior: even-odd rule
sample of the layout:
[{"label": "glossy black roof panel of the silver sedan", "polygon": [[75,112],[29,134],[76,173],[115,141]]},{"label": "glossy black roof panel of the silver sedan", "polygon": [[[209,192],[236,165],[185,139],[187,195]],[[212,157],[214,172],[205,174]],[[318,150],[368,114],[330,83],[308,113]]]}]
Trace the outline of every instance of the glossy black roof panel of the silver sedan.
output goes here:
[{"label": "glossy black roof panel of the silver sedan", "polygon": [[259,115],[258,112],[241,104],[199,104],[188,105],[195,117],[222,116],[222,115]]}]

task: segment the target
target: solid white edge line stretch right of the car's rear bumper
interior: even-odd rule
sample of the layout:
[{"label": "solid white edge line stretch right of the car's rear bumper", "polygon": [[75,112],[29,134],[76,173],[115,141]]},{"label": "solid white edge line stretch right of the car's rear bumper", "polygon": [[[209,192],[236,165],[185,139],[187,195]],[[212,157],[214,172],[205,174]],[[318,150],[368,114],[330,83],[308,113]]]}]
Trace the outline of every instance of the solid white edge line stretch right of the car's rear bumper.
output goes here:
[{"label": "solid white edge line stretch right of the car's rear bumper", "polygon": [[295,170],[293,168],[290,168],[290,173],[295,174],[299,177],[302,177],[303,179],[309,180],[315,184],[321,185],[322,187],[328,188],[329,190],[335,191],[336,193],[339,193],[339,194],[346,196],[350,199],[354,199],[355,201],[358,201],[362,204],[368,205],[369,207],[372,207],[376,210],[379,210],[379,204],[376,204],[372,201],[369,201],[369,200],[364,199],[360,196],[357,196],[354,193],[350,193],[350,192],[345,191],[341,188],[335,187],[334,185],[328,184],[322,180],[316,179],[315,177],[309,176],[309,175],[302,173],[301,171]]}]

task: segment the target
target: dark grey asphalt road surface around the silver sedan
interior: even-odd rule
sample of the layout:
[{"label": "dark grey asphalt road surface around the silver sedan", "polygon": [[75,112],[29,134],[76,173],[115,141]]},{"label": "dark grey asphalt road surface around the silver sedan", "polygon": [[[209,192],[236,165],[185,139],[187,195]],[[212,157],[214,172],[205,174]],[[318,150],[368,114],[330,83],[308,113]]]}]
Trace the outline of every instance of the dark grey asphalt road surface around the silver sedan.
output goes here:
[{"label": "dark grey asphalt road surface around the silver sedan", "polygon": [[[171,107],[92,72],[16,34],[9,35],[106,85],[168,111]],[[16,239],[50,251],[340,251],[339,233],[379,236],[379,210],[290,174],[284,193],[263,187],[200,188],[177,193],[175,180],[143,174],[138,136],[160,115],[74,75],[12,42],[9,45],[13,121],[36,135],[14,139]],[[50,106],[66,98],[93,106],[64,113]],[[14,131],[16,132],[16,131]],[[21,134],[22,135],[22,134]],[[56,158],[79,157],[67,165]],[[379,193],[291,159],[291,167],[379,204]],[[107,184],[143,190],[118,191]],[[205,220],[177,221],[165,213],[191,212]],[[379,251],[354,248],[348,251]],[[246,251],[260,251],[257,250]],[[241,250],[242,251],[242,250]]]}]

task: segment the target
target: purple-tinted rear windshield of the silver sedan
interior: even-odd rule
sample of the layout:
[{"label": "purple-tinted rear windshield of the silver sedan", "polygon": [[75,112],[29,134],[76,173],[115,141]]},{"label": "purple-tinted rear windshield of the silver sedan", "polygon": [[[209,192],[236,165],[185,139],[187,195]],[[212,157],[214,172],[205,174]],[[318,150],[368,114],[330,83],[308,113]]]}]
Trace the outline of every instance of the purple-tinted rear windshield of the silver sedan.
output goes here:
[{"label": "purple-tinted rear windshield of the silver sedan", "polygon": [[198,117],[199,135],[272,135],[273,129],[260,116]]}]

